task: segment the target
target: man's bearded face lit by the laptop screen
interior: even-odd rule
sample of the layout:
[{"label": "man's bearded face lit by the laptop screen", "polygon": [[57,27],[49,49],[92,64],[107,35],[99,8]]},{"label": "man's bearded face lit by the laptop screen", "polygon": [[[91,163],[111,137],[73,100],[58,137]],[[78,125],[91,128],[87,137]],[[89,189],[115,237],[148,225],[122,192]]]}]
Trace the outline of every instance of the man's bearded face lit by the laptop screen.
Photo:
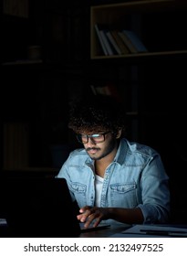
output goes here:
[{"label": "man's bearded face lit by the laptop screen", "polygon": [[107,133],[104,142],[95,143],[92,138],[88,138],[88,143],[84,144],[84,147],[93,160],[99,160],[116,149],[117,141],[112,133]]}]

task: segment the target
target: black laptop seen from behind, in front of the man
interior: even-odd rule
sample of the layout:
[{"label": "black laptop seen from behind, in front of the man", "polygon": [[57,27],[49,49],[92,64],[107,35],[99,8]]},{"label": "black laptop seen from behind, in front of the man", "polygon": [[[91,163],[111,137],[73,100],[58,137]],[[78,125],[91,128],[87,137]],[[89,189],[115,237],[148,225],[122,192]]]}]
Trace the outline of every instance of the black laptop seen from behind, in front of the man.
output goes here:
[{"label": "black laptop seen from behind, in front of the man", "polygon": [[5,177],[1,180],[8,237],[78,237],[77,209],[64,178]]}]

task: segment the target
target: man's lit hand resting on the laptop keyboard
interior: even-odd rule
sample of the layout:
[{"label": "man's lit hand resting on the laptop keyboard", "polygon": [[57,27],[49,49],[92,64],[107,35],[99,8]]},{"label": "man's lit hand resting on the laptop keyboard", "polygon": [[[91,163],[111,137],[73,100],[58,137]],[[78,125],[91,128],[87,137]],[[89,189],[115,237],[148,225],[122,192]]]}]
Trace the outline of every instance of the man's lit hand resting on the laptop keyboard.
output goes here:
[{"label": "man's lit hand resting on the laptop keyboard", "polygon": [[97,227],[102,219],[108,219],[108,209],[98,207],[84,207],[79,209],[80,214],[77,216],[78,220],[85,222],[84,227],[88,228],[93,220],[93,227]]}]

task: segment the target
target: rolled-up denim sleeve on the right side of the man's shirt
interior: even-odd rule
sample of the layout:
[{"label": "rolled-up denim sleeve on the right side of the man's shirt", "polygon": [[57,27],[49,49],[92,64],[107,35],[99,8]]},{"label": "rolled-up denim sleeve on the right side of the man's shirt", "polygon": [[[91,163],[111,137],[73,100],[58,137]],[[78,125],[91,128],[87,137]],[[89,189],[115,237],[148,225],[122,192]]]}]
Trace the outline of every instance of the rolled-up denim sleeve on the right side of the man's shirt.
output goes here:
[{"label": "rolled-up denim sleeve on the right side of the man's shirt", "polygon": [[138,205],[144,216],[144,224],[166,223],[170,215],[169,177],[160,155],[151,157],[145,165],[140,181],[142,204]]}]

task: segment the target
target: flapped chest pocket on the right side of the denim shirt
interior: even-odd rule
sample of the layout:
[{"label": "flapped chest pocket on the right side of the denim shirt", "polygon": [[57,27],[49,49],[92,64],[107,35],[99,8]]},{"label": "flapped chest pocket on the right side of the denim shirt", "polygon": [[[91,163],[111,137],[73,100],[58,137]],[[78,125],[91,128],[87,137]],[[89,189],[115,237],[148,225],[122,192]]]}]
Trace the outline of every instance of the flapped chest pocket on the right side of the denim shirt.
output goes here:
[{"label": "flapped chest pocket on the right side of the denim shirt", "polygon": [[111,184],[111,207],[135,208],[137,206],[136,183]]}]

